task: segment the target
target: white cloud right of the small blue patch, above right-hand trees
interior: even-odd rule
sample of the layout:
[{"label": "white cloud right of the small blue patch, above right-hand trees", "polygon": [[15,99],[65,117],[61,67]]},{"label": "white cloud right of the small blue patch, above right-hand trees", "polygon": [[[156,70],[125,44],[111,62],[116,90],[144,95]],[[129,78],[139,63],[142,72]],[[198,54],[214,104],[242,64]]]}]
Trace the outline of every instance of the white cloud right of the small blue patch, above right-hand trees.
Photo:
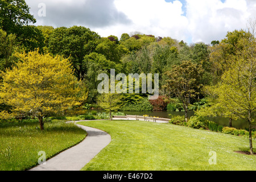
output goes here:
[{"label": "white cloud right of the small blue patch, above right-hand trees", "polygon": [[246,0],[226,0],[224,3],[220,0],[187,0],[192,42],[221,40],[228,31],[246,28],[251,15]]}]

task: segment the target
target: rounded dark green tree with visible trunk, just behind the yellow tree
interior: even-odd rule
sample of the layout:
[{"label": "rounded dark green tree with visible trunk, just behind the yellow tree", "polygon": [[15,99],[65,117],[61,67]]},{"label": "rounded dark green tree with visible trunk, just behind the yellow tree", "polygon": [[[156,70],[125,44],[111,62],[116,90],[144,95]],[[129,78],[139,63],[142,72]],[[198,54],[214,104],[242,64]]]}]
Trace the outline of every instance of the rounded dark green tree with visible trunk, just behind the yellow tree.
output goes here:
[{"label": "rounded dark green tree with visible trunk, just behind the yellow tree", "polygon": [[95,52],[100,35],[89,28],[55,28],[49,36],[49,52],[71,60],[77,80],[84,80],[87,69],[84,56]]}]

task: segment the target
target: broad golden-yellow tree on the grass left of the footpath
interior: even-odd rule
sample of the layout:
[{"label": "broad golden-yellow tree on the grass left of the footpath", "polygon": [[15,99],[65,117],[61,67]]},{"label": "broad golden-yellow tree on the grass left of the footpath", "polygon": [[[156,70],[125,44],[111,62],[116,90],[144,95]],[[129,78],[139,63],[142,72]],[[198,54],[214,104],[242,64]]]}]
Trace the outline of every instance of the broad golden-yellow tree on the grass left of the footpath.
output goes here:
[{"label": "broad golden-yellow tree on the grass left of the footpath", "polygon": [[0,90],[2,101],[12,106],[16,117],[34,115],[44,130],[44,117],[63,113],[86,100],[87,93],[72,74],[72,65],[67,59],[38,51],[17,56],[19,63],[1,73]]}]

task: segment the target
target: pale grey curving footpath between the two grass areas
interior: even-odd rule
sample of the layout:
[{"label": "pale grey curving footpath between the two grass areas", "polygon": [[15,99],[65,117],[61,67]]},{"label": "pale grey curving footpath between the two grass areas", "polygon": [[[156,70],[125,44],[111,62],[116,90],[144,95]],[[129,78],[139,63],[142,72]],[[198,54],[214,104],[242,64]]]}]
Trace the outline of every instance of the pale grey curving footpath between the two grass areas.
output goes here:
[{"label": "pale grey curving footpath between the two grass areas", "polygon": [[47,160],[46,164],[40,164],[29,171],[79,171],[111,142],[110,135],[104,131],[88,126],[77,126],[87,133],[82,142],[60,152]]}]

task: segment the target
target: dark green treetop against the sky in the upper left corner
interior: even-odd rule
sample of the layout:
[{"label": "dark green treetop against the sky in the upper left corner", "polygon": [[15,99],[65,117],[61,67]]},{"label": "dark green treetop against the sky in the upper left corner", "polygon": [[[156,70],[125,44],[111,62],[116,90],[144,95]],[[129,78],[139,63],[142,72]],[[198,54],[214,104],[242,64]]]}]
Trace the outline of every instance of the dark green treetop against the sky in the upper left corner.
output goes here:
[{"label": "dark green treetop against the sky in the upper left corner", "polygon": [[30,25],[35,22],[24,0],[0,1],[0,28],[7,34],[15,34],[17,42],[27,52],[43,48],[42,31]]}]

